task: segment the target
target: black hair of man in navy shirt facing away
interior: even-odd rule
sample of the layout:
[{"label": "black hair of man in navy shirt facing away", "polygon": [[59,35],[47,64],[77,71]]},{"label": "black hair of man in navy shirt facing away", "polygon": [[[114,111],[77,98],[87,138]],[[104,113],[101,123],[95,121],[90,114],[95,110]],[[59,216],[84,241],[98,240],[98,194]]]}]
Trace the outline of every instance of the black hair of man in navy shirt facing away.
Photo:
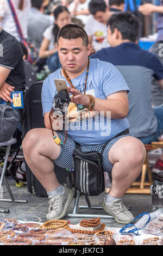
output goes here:
[{"label": "black hair of man in navy shirt facing away", "polygon": [[123,40],[127,39],[135,42],[137,39],[139,21],[128,11],[113,14],[108,20],[107,26],[109,26],[111,33],[117,28],[117,30],[121,32]]}]

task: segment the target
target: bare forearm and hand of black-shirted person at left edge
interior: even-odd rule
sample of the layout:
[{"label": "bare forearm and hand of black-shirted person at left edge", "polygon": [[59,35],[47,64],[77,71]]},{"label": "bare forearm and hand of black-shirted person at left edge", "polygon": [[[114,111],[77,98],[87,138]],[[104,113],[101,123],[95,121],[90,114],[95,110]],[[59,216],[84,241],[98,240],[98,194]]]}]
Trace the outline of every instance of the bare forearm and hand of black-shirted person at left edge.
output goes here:
[{"label": "bare forearm and hand of black-shirted person at left edge", "polygon": [[11,92],[14,92],[14,87],[10,86],[8,83],[5,83],[10,71],[11,69],[0,66],[0,98],[6,102],[12,102],[10,95]]}]

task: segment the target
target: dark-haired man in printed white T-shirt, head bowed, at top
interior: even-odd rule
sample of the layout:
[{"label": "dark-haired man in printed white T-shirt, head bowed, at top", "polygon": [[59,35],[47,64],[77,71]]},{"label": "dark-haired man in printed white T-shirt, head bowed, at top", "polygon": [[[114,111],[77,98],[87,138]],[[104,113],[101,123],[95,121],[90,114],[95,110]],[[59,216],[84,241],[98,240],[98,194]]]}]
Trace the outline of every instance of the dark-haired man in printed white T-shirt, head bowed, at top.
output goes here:
[{"label": "dark-haired man in printed white T-shirt, head bowed, at top", "polygon": [[86,22],[85,31],[89,36],[89,44],[92,45],[92,54],[101,48],[110,46],[107,39],[106,23],[111,14],[104,0],[91,0],[89,11],[92,15]]}]

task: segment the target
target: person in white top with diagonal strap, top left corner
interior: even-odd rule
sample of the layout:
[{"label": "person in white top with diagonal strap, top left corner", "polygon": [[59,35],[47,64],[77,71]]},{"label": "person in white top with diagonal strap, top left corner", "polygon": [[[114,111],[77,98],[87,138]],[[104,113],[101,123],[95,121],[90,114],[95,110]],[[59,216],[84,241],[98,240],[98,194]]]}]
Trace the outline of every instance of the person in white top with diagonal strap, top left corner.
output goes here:
[{"label": "person in white top with diagonal strap, top left corner", "polygon": [[[30,0],[14,0],[12,1],[12,4],[14,4],[24,38],[27,38],[27,23],[31,6]],[[7,0],[0,1],[0,27],[3,27],[5,31],[15,36],[15,38],[20,41],[20,37],[18,35],[17,28]]]}]

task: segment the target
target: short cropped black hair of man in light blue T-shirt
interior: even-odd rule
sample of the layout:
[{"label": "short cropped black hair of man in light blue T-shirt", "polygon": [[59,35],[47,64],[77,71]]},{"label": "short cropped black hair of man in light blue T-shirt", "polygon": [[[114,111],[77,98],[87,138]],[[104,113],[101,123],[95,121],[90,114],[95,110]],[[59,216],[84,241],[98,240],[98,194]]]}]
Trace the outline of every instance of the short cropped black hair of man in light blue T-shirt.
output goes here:
[{"label": "short cropped black hair of man in light blue T-shirt", "polygon": [[60,29],[57,35],[57,44],[61,37],[68,40],[82,38],[84,46],[87,47],[89,44],[89,39],[85,30],[76,24],[67,24]]}]

